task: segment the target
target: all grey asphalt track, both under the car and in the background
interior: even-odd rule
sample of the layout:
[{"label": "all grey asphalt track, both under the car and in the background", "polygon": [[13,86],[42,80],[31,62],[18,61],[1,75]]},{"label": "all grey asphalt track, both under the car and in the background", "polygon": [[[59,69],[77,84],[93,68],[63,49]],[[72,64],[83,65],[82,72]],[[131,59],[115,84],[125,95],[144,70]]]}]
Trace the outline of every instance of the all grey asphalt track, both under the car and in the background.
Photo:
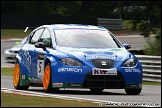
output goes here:
[{"label": "all grey asphalt track, both under the car and in the background", "polygon": [[[118,37],[118,39],[122,43],[129,43],[132,45],[132,49],[141,49],[144,44],[146,44],[145,40],[141,36],[132,36],[132,37]],[[1,40],[1,67],[5,66],[14,66],[14,63],[7,63],[4,60],[4,51],[7,48],[10,48],[14,45],[17,40]],[[1,90],[2,88],[14,89],[13,87],[13,78],[9,76],[1,76]],[[42,87],[29,87],[30,92],[36,93],[44,93]],[[126,95],[124,89],[105,89],[100,94],[91,94],[89,89],[60,89],[58,93],[50,94],[51,97],[55,97],[55,95],[59,96],[67,96],[83,99],[93,99],[108,101],[108,102],[137,102],[137,103],[146,103],[146,104],[160,104],[161,106],[161,86],[149,86],[143,85],[142,92],[139,95]]]}]

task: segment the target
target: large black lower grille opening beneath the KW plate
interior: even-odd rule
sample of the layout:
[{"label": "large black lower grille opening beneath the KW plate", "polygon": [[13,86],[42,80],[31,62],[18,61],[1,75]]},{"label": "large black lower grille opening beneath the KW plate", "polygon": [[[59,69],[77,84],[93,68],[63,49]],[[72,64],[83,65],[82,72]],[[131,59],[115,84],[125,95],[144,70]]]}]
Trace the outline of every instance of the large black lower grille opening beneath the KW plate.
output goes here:
[{"label": "large black lower grille opening beneath the KW plate", "polygon": [[92,75],[92,72],[88,72],[84,83],[83,88],[124,88],[125,83],[123,80],[122,73],[117,72],[117,76],[113,75]]}]

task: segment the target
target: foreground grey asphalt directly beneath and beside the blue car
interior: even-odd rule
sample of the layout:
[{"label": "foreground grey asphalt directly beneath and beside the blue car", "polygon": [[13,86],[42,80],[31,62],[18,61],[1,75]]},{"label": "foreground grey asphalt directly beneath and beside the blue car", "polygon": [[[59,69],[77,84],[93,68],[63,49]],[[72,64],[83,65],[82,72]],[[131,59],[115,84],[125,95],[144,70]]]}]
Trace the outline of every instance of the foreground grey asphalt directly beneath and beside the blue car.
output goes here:
[{"label": "foreground grey asphalt directly beneath and beside the blue car", "polygon": [[[1,76],[1,89],[13,87],[13,77]],[[42,95],[50,94],[50,97],[64,96],[76,99],[93,99],[100,102],[120,102],[120,103],[147,103],[158,104],[161,106],[161,86],[143,85],[142,92],[139,95],[126,95],[124,89],[105,89],[98,94],[92,94],[89,89],[60,89],[58,93],[44,93],[42,87],[29,87],[28,91],[41,93]]]}]

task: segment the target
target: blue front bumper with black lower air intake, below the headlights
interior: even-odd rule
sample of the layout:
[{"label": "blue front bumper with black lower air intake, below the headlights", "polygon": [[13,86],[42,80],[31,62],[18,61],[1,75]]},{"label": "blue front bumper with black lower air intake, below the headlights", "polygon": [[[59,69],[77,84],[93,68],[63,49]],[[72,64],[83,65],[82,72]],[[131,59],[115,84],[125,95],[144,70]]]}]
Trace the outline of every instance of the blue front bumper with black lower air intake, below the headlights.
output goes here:
[{"label": "blue front bumper with black lower air intake, below the headlights", "polygon": [[[56,62],[55,62],[56,63]],[[117,75],[92,75],[90,66],[83,67],[61,67],[52,64],[52,86],[59,88],[80,87],[80,88],[105,88],[124,89],[138,88],[142,84],[142,68],[135,67],[140,72],[126,72],[125,68],[117,68]],[[73,69],[71,69],[73,68]],[[72,70],[72,71],[70,71]],[[73,85],[73,86],[70,86]]]}]

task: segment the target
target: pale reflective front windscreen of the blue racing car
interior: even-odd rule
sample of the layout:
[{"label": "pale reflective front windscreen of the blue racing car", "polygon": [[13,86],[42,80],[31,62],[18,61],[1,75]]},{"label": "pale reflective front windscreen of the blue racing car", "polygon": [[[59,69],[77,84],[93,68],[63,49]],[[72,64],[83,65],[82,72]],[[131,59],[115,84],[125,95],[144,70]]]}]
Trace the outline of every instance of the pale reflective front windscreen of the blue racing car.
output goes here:
[{"label": "pale reflective front windscreen of the blue racing car", "polygon": [[108,31],[87,29],[54,30],[56,44],[61,47],[119,48]]}]

